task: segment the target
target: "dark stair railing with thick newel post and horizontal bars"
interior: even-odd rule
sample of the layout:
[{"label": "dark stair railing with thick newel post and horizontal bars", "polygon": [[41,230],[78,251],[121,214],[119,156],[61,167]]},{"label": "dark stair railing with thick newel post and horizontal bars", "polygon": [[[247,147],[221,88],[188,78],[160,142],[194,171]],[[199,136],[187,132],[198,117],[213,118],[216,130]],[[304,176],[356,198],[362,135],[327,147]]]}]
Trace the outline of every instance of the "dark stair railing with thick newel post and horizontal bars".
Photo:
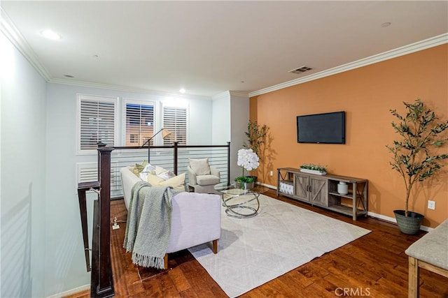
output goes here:
[{"label": "dark stair railing with thick newel post and horizontal bars", "polygon": [[[151,147],[172,149],[173,172],[178,173],[179,167],[187,167],[188,157],[209,157],[214,165],[221,165],[225,171],[225,178],[229,183],[230,177],[230,142],[227,145],[203,145],[203,146],[179,146],[174,142],[173,146]],[[213,148],[225,148],[227,154],[213,154]],[[110,251],[110,218],[111,218],[111,153],[113,150],[122,153],[127,149],[139,149],[139,147],[106,147],[106,144],[98,144],[98,180],[78,184],[78,201],[83,232],[83,244],[85,253],[85,265],[87,271],[91,271],[90,297],[113,297],[113,274]],[[166,157],[166,156],[164,156]],[[92,265],[90,265],[90,248],[87,235],[87,202],[86,192],[94,191],[98,199],[94,200],[93,233],[92,233]]]}]

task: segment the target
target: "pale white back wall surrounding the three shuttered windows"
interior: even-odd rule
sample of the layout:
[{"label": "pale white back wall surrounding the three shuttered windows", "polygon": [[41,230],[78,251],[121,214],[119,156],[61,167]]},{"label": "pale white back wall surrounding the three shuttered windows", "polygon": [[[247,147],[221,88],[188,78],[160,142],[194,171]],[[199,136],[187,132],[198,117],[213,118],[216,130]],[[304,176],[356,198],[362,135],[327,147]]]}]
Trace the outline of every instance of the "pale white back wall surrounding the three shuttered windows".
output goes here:
[{"label": "pale white back wall surrounding the three shuttered windows", "polygon": [[[151,94],[48,84],[47,94],[47,206],[45,274],[46,295],[90,283],[85,270],[83,239],[76,193],[76,163],[96,162],[97,156],[76,156],[76,94],[116,96],[144,100],[179,100],[188,105],[189,144],[211,144],[211,100],[169,98]],[[119,103],[121,105],[121,103]],[[91,232],[92,201],[87,198]],[[90,236],[91,239],[91,236]]]}]

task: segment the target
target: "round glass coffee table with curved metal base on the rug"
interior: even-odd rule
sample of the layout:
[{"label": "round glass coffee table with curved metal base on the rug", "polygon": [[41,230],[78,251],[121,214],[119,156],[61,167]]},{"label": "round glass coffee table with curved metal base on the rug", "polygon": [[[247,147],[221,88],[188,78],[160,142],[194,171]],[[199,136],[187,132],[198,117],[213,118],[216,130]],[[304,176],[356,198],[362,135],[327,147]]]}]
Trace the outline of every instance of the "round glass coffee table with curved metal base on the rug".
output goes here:
[{"label": "round glass coffee table with curved metal base on the rug", "polygon": [[221,193],[225,214],[235,218],[249,218],[258,214],[260,193],[265,193],[267,187],[255,184],[251,189],[236,188],[235,184],[222,182],[214,186]]}]

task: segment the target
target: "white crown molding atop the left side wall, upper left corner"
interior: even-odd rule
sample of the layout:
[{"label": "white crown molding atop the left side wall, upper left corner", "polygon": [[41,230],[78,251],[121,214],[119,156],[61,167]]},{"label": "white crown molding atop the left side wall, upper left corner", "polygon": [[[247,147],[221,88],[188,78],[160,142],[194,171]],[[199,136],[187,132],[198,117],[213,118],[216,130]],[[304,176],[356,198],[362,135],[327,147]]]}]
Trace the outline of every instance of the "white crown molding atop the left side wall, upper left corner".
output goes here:
[{"label": "white crown molding atop the left side wall, upper left corner", "polygon": [[10,40],[11,43],[18,49],[18,51],[27,59],[27,61],[37,70],[37,72],[48,82],[50,80],[50,73],[41,64],[36,53],[28,45],[22,33],[18,31],[13,22],[10,20],[5,10],[0,7],[0,30]]}]

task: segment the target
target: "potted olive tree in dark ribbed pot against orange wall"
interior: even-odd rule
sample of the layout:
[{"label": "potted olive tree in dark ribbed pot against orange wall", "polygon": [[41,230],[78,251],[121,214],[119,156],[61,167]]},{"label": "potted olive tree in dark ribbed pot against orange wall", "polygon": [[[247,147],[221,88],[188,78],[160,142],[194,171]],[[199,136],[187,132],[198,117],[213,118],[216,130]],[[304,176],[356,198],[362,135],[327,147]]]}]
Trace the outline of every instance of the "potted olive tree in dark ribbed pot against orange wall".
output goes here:
[{"label": "potted olive tree in dark ribbed pot against orange wall", "polygon": [[440,161],[448,158],[448,154],[434,153],[436,147],[442,147],[448,140],[443,133],[448,128],[448,120],[438,121],[435,112],[423,105],[420,99],[404,104],[405,116],[390,110],[398,119],[397,123],[392,122],[392,127],[400,137],[386,147],[393,155],[390,164],[400,173],[406,187],[405,209],[394,210],[393,213],[401,232],[416,234],[423,215],[409,211],[412,187],[437,173],[443,166]]}]

